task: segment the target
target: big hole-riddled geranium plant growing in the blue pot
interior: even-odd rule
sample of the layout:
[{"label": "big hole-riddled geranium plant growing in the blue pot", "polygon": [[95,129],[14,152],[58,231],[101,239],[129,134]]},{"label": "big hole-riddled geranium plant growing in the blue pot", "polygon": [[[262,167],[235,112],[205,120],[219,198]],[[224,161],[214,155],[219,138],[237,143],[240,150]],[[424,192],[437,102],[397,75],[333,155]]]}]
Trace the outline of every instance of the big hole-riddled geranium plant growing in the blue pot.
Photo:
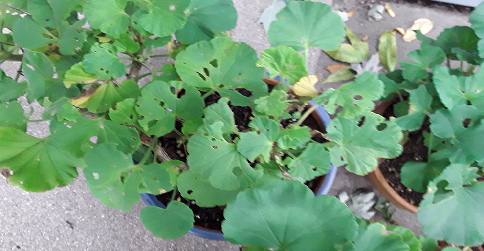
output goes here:
[{"label": "big hole-riddled geranium plant growing in the blue pot", "polygon": [[[399,127],[371,112],[383,82],[367,72],[299,98],[262,81],[266,70],[296,89],[314,79],[309,47],[335,50],[345,34],[330,6],[289,3],[268,32],[275,48],[261,59],[223,33],[235,26],[230,0],[14,0],[0,10],[1,28],[10,30],[2,60],[21,61],[26,78],[1,72],[0,165],[10,184],[42,192],[68,185],[83,168],[93,196],[123,211],[140,193],[179,191],[201,207],[227,205],[225,237],[249,250],[410,250],[417,240],[356,221],[336,198],[314,197],[303,184],[330,162],[363,175],[377,158],[400,154]],[[168,55],[151,53],[167,43]],[[175,63],[151,70],[161,56]],[[45,108],[50,136],[26,133],[30,121],[16,100],[24,94]],[[309,101],[331,114],[341,107],[326,132],[302,126],[317,107],[305,110]],[[249,111],[246,125],[236,123],[237,107]],[[181,149],[178,159],[162,147],[167,139]],[[141,219],[154,235],[178,238],[194,214],[172,200],[166,209],[146,207]]]}]

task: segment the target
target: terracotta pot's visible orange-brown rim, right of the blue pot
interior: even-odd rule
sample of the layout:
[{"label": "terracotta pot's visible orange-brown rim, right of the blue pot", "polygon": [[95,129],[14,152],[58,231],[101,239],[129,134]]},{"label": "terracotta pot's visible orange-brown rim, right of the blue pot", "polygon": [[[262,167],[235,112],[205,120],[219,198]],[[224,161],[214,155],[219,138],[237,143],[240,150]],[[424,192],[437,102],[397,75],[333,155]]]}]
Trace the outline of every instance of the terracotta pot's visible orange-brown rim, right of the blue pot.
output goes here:
[{"label": "terracotta pot's visible orange-brown rim, right of the blue pot", "polygon": [[[376,114],[383,114],[383,112],[392,104],[394,99],[391,99],[389,101],[382,102],[380,105],[378,105],[374,109],[374,113]],[[388,184],[388,182],[385,180],[385,177],[383,177],[383,174],[381,173],[380,169],[376,167],[376,169],[367,174],[366,178],[372,183],[374,188],[380,192],[381,195],[383,195],[388,201],[393,203],[395,206],[409,211],[411,213],[417,213],[418,207],[415,205],[407,202],[404,198],[402,198],[393,188]]]}]

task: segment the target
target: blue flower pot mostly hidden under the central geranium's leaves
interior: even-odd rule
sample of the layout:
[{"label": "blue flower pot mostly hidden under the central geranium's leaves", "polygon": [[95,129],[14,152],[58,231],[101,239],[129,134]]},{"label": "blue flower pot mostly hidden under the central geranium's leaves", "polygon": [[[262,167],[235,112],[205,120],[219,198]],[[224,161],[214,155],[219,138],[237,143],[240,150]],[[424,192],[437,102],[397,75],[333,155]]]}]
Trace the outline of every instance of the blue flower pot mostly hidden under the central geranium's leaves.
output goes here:
[{"label": "blue flower pot mostly hidden under the central geranium's leaves", "polygon": [[[273,80],[273,79],[268,79],[265,78],[264,82],[268,85],[275,85],[275,84],[280,84],[279,81]],[[310,102],[311,105],[316,105],[314,102]],[[326,125],[330,123],[330,116],[328,113],[324,110],[322,106],[319,106],[312,114],[311,114],[317,121],[318,125],[321,127],[321,129],[324,129]],[[334,179],[336,177],[336,172],[337,172],[337,167],[331,164],[331,168],[328,171],[328,173],[320,179],[319,183],[316,185],[314,188],[313,192],[315,196],[319,195],[325,195],[328,193],[330,190]],[[148,194],[148,193],[143,193],[141,195],[141,200],[148,205],[148,206],[158,206],[161,208],[166,208],[166,205],[161,203],[155,195],[153,194]],[[205,239],[211,239],[211,240],[219,240],[219,241],[226,241],[226,239],[223,237],[223,233],[219,230],[211,230],[207,229],[204,227],[200,226],[194,226],[192,230],[189,231],[190,234],[202,237]]]}]

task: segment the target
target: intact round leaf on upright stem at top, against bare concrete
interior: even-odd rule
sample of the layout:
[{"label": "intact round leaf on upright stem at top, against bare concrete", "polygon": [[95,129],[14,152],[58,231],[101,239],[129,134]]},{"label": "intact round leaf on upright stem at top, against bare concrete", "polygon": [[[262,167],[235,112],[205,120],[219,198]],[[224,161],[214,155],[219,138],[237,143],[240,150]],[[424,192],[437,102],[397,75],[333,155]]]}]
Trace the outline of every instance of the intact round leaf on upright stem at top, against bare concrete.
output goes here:
[{"label": "intact round leaf on upright stem at top, against bare concrete", "polygon": [[286,45],[296,51],[309,47],[336,50],[345,36],[344,22],[330,5],[320,2],[291,2],[270,25],[272,47]]}]

